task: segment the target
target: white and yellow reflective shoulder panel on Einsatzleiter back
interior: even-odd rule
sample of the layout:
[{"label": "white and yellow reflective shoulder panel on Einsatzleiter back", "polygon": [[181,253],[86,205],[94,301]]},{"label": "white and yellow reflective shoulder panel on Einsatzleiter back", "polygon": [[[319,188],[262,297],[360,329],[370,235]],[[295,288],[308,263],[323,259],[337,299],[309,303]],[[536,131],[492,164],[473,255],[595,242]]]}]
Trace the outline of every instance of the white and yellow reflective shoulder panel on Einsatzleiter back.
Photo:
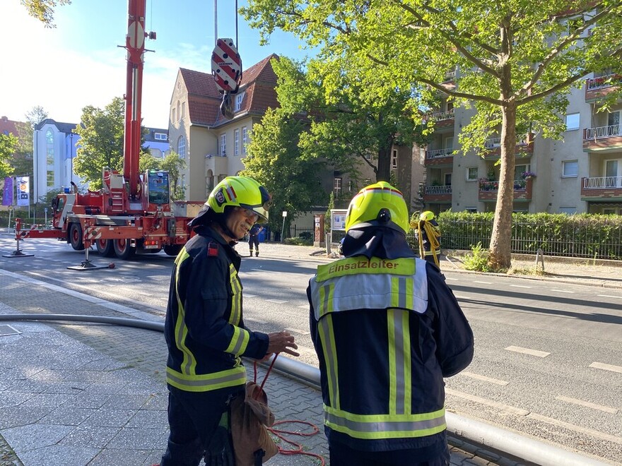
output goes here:
[{"label": "white and yellow reflective shoulder panel on Einsatzleiter back", "polygon": [[[359,273],[358,268],[339,267],[331,271],[331,265],[338,265],[340,262],[321,265],[315,280],[310,281],[311,301],[318,321],[327,313],[353,309],[399,307],[418,313],[424,313],[428,309],[426,270],[415,270],[416,259],[392,260],[396,264],[390,269],[393,271],[382,272],[378,268],[371,268],[372,272]],[[324,273],[319,270],[322,267],[325,268]],[[395,270],[400,272],[395,273]],[[401,270],[413,273],[401,275]],[[319,280],[320,276],[325,280]]]}]

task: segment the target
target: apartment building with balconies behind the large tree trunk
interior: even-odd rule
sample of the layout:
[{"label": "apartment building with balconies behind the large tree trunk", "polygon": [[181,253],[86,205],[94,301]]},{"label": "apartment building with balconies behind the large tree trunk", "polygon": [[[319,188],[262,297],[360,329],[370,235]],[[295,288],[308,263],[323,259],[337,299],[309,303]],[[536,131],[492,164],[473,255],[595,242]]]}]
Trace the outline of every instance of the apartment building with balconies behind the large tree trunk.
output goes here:
[{"label": "apartment building with balconies behind the large tree trunk", "polygon": [[[454,75],[447,76],[454,86]],[[514,210],[528,213],[622,215],[622,102],[599,111],[622,76],[597,73],[569,95],[561,141],[517,134]],[[485,156],[457,155],[458,134],[473,110],[447,102],[430,114],[433,141],[424,150],[426,209],[491,212],[498,193],[500,138],[486,141]]]}]

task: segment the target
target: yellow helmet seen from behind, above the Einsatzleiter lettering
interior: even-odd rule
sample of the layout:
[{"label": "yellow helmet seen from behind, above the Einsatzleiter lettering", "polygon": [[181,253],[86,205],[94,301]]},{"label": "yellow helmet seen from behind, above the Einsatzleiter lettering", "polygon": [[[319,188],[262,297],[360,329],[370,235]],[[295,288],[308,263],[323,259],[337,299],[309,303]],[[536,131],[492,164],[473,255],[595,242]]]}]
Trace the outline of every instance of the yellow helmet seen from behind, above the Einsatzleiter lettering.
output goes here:
[{"label": "yellow helmet seen from behind, above the Einsatzleiter lettering", "polygon": [[402,193],[387,181],[370,184],[352,198],[346,214],[346,232],[351,228],[389,227],[406,234],[409,215]]}]

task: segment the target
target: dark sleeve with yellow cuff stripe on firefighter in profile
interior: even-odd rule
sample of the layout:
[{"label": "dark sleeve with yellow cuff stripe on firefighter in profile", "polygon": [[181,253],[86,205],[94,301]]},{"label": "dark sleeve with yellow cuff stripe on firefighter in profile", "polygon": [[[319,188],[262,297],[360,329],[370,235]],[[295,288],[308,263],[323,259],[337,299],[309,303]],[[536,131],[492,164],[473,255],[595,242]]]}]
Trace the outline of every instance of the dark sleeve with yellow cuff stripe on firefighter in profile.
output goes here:
[{"label": "dark sleeve with yellow cuff stripe on firefighter in profile", "polygon": [[201,257],[194,258],[186,269],[180,270],[180,283],[187,282],[183,305],[190,337],[234,356],[264,357],[268,335],[247,330],[241,320],[240,325],[228,321],[232,293],[228,263],[222,258]]}]

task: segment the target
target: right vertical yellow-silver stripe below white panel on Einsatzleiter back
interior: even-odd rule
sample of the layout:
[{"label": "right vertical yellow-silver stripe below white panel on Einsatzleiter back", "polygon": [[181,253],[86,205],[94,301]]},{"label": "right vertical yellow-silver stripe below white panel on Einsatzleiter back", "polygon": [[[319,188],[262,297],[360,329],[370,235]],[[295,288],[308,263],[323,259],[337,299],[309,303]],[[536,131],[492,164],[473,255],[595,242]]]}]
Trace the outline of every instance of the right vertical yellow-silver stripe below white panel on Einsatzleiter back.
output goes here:
[{"label": "right vertical yellow-silver stripe below white panel on Einsatzleiter back", "polygon": [[387,310],[389,333],[389,414],[411,412],[411,339],[408,311]]}]

